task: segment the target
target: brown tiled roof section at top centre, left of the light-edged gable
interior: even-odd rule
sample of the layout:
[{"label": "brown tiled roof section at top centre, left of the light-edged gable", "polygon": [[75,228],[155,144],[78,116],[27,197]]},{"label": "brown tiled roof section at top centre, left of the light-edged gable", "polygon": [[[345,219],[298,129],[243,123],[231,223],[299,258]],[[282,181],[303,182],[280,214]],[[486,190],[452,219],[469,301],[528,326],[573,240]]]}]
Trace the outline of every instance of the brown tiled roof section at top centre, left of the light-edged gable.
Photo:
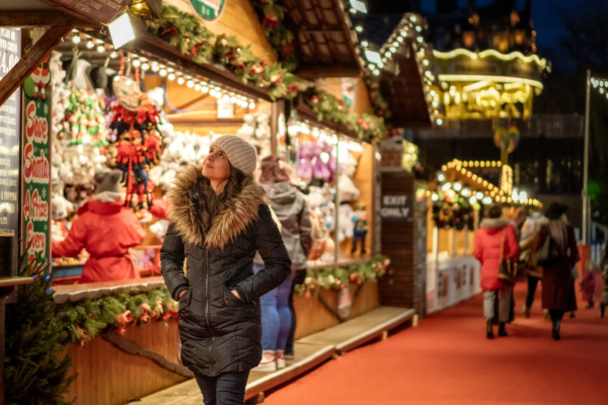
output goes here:
[{"label": "brown tiled roof section at top centre, left of the light-edged gable", "polygon": [[358,77],[357,35],[342,0],[285,0],[304,78]]}]

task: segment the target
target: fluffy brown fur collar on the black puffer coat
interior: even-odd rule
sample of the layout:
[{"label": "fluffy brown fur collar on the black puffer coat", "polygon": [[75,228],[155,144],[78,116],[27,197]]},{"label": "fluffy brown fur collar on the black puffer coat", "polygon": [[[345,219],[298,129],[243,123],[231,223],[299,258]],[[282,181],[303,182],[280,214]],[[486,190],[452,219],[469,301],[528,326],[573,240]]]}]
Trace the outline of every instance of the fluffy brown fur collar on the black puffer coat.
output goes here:
[{"label": "fluffy brown fur collar on the black puffer coat", "polygon": [[169,215],[175,230],[185,243],[208,248],[224,248],[258,217],[258,207],[266,203],[266,191],[255,180],[245,180],[243,189],[213,218],[207,234],[202,230],[201,216],[196,212],[192,195],[202,179],[201,169],[188,166],[175,177],[168,192]]}]

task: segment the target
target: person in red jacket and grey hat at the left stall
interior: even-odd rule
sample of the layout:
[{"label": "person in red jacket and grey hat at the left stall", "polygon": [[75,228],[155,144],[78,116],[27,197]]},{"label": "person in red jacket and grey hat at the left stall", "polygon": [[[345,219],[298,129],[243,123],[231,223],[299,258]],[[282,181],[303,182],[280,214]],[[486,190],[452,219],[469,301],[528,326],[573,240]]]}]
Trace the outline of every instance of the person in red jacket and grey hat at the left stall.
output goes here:
[{"label": "person in red jacket and grey hat at the left stall", "polygon": [[139,278],[128,250],[139,245],[146,233],[122,205],[121,178],[117,169],[95,173],[96,193],[78,209],[66,239],[52,245],[53,257],[76,257],[83,248],[91,255],[81,284]]}]

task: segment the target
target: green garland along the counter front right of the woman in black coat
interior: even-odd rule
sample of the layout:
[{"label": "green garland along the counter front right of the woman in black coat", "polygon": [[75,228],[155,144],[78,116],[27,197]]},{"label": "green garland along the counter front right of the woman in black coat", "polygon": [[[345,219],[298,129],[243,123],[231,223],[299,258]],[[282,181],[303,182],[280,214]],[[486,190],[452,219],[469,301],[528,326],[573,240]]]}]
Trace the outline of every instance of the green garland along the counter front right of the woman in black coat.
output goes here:
[{"label": "green garland along the counter front right of the woman in black coat", "polygon": [[310,298],[317,296],[322,288],[327,290],[341,290],[349,282],[358,285],[365,281],[373,281],[384,276],[390,260],[385,256],[378,256],[365,262],[353,264],[347,268],[327,267],[323,270],[308,270],[304,284],[296,285],[294,290],[299,296]]}]

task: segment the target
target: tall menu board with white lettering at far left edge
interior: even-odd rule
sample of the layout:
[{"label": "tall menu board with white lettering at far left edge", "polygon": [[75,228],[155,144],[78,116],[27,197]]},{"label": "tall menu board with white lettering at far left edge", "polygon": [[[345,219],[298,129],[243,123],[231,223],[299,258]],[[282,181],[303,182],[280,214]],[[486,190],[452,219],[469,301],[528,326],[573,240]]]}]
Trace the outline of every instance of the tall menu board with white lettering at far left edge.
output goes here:
[{"label": "tall menu board with white lettering at far left edge", "polygon": [[[0,28],[0,80],[21,58],[21,30]],[[19,254],[21,89],[0,106],[0,276],[15,276]]]}]

